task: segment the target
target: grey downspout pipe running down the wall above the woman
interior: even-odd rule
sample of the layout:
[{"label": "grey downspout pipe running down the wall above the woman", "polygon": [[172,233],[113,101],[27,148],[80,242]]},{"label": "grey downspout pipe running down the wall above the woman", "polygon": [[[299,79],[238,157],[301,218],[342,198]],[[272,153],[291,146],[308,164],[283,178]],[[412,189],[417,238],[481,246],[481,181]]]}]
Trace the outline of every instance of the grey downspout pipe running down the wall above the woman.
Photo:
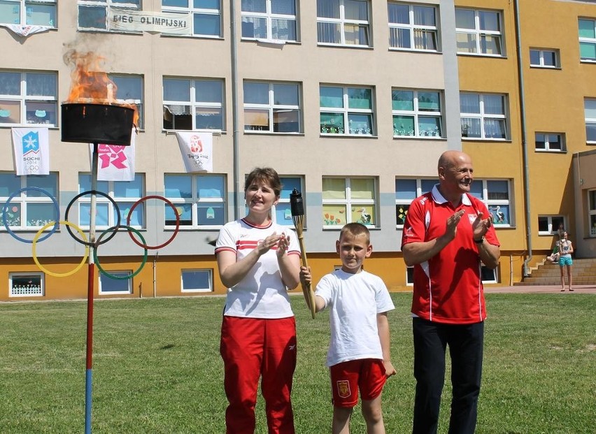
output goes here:
[{"label": "grey downspout pipe running down the wall above the woman", "polygon": [[232,141],[234,158],[234,220],[239,219],[244,210],[242,206],[242,192],[240,185],[239,163],[239,134],[238,134],[238,42],[236,41],[236,0],[229,0],[230,40],[232,52]]}]

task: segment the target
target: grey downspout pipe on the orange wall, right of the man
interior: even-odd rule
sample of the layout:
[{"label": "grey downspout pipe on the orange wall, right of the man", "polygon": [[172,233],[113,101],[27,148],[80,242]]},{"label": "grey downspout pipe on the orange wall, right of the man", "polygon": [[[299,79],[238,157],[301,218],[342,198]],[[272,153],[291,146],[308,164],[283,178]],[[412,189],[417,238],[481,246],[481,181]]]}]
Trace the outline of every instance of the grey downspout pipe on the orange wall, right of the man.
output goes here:
[{"label": "grey downspout pipe on the orange wall, right of the man", "polygon": [[521,27],[520,27],[520,7],[519,0],[514,1],[514,13],[516,15],[516,39],[517,39],[517,60],[518,60],[518,79],[519,79],[519,98],[520,98],[520,122],[522,133],[522,152],[523,152],[523,187],[524,187],[524,208],[525,208],[525,225],[526,225],[526,239],[527,239],[527,258],[523,261],[523,277],[528,277],[529,266],[528,263],[532,259],[532,216],[530,214],[530,167],[527,161],[527,131],[525,122],[525,96],[523,85],[523,52],[521,43]]}]

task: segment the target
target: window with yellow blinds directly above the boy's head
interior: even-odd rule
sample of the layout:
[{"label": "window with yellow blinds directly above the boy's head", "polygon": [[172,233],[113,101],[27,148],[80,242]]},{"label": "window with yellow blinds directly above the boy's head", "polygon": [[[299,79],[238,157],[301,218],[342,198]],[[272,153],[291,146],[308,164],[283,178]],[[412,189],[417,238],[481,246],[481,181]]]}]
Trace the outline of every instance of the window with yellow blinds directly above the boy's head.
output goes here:
[{"label": "window with yellow blinds directly above the boy's head", "polygon": [[339,229],[351,222],[378,226],[376,197],[375,178],[323,178],[323,228]]}]

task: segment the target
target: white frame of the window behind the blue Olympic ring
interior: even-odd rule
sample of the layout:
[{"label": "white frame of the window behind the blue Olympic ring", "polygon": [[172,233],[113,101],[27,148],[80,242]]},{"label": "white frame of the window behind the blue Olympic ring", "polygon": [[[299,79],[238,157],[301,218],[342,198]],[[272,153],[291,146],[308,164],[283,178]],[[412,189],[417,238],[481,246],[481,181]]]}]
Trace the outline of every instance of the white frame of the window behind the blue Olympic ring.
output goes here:
[{"label": "white frame of the window behind the blue Olympic ring", "polygon": [[[17,176],[17,175],[15,175],[15,173],[0,172],[0,176],[8,176],[8,177],[17,178],[17,180],[14,182],[15,184],[20,185],[20,186],[17,186],[17,189],[24,189],[27,187],[37,187],[37,188],[44,189],[45,191],[48,191],[48,187],[45,187],[45,186],[40,187],[39,185],[36,185],[38,183],[34,182],[34,181],[38,180],[38,179],[47,178],[48,180],[50,180],[50,182],[53,183],[53,186],[52,186],[53,191],[48,191],[48,193],[54,194],[53,197],[55,198],[57,203],[59,203],[59,177],[58,177],[58,173],[56,173],[56,172],[50,172],[50,175],[27,175],[27,176]],[[52,180],[52,178],[50,178],[50,177],[53,177],[54,179]],[[4,204],[8,200],[8,197],[10,197],[10,195],[12,195],[12,194],[16,194],[16,191],[9,192],[8,196],[0,196],[0,210],[3,209]],[[17,194],[13,198],[10,199],[10,205],[12,206],[12,208],[15,208],[15,207],[18,208],[17,211],[11,209],[12,212],[18,213],[18,216],[12,217],[13,216],[12,214],[8,214],[3,217],[3,218],[7,219],[8,227],[10,228],[11,231],[39,230],[43,226],[45,226],[45,224],[57,221],[57,216],[55,216],[55,205],[54,205],[52,199],[50,197],[46,196],[45,194],[42,194],[41,192],[39,192],[36,195],[36,194],[31,194],[31,191],[22,191],[20,194]],[[35,205],[47,205],[45,208],[48,208],[51,210],[52,217],[48,218],[48,219],[42,219],[41,222],[37,222],[38,224],[28,224],[29,223],[29,217],[28,217],[29,205],[31,205],[31,207],[35,207]],[[9,218],[17,219],[17,220],[10,221],[10,220],[8,220]],[[11,223],[18,223],[18,224],[11,224]],[[51,229],[52,228],[48,228],[48,229],[46,229],[46,231],[50,231]],[[6,226],[4,226],[3,224],[0,225],[0,232],[2,232],[2,231],[6,231]]]}]

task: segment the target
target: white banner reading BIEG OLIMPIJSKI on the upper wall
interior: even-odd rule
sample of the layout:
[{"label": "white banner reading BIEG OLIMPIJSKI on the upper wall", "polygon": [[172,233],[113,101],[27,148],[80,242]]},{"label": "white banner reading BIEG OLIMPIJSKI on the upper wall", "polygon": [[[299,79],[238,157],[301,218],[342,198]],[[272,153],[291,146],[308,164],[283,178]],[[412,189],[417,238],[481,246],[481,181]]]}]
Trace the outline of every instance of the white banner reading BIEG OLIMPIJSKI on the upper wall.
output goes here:
[{"label": "white banner reading BIEG OLIMPIJSKI on the upper wall", "polygon": [[190,15],[187,13],[152,12],[110,8],[109,28],[120,31],[154,31],[170,35],[190,36]]}]

